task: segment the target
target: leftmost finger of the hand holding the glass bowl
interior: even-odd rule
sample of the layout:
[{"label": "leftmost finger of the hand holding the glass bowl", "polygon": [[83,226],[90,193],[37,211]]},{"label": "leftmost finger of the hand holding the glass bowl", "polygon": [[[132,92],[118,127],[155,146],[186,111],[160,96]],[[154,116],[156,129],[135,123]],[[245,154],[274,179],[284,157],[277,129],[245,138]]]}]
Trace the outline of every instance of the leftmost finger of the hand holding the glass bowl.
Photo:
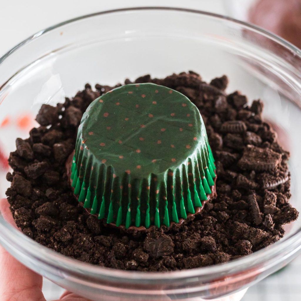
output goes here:
[{"label": "leftmost finger of the hand holding the glass bowl", "polygon": [[[2,216],[14,225],[7,200],[0,200]],[[42,276],[26,268],[0,246],[0,295],[6,301],[45,301]]]}]

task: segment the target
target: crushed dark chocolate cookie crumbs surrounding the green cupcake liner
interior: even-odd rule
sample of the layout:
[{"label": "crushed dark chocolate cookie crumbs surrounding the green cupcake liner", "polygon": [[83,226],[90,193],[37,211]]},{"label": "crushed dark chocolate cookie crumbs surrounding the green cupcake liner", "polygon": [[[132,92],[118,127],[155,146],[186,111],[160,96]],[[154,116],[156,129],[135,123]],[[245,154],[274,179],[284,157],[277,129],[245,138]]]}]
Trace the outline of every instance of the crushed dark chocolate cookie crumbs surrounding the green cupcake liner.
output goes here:
[{"label": "crushed dark chocolate cookie crumbs surrounding the green cupcake liner", "polygon": [[[218,197],[189,222],[150,233],[112,228],[90,215],[69,186],[65,161],[88,105],[116,86],[89,84],[56,107],[43,105],[41,125],[17,139],[8,173],[11,212],[23,233],[66,256],[110,268],[169,271],[227,262],[260,250],[284,235],[298,212],[289,203],[289,153],[263,122],[260,100],[226,95],[228,78],[210,84],[193,71],[165,79],[141,76],[185,94],[200,110],[216,159]],[[126,84],[131,83],[129,79]]]}]

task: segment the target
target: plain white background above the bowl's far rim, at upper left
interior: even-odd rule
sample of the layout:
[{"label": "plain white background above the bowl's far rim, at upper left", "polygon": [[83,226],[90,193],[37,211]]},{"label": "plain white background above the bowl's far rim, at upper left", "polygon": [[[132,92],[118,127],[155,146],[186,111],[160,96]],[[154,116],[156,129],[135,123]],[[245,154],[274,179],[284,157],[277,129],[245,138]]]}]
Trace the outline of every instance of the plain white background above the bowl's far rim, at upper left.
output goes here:
[{"label": "plain white background above the bowl's far rim, at upper left", "polygon": [[135,6],[173,6],[222,14],[223,2],[223,0],[0,0],[0,56],[41,29],[97,11]]}]

